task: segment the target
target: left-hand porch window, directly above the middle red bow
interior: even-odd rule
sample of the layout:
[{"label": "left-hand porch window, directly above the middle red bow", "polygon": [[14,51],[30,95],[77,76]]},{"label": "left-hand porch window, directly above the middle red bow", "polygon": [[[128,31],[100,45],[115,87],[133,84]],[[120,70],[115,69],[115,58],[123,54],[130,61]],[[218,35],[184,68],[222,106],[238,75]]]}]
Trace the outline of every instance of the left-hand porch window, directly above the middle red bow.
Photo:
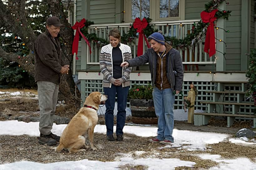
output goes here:
[{"label": "left-hand porch window, directly above the middle red bow", "polygon": [[132,0],[132,19],[150,17],[150,0]]}]

